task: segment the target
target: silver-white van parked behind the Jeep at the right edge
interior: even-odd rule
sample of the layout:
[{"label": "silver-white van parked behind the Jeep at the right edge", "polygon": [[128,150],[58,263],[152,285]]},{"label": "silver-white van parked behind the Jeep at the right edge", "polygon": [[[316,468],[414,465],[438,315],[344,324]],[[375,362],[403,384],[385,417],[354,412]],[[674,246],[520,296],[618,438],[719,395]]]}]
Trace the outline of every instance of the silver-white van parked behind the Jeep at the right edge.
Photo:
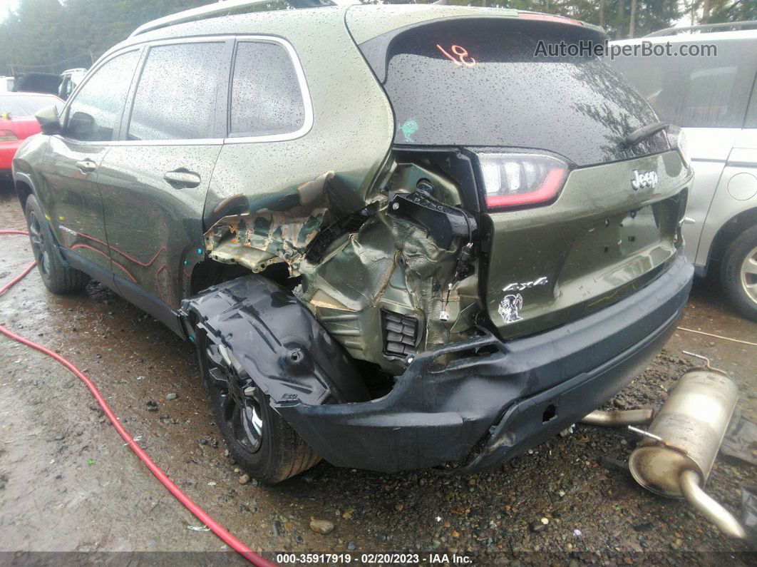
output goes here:
[{"label": "silver-white van parked behind the Jeep at the right edge", "polygon": [[[611,42],[615,51],[639,47],[608,63],[660,120],[686,132],[695,172],[687,204],[694,222],[682,227],[688,257],[699,276],[718,269],[740,313],[757,320],[757,29],[750,27],[757,25],[671,28]],[[643,44],[665,55],[645,56]]]}]

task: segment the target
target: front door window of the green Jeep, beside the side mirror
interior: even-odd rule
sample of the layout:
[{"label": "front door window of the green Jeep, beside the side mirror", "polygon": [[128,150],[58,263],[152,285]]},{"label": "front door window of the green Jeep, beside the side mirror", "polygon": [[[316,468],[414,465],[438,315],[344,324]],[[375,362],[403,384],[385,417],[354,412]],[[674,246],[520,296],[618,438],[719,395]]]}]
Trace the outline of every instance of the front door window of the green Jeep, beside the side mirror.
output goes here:
[{"label": "front door window of the green Jeep, beside the side mirror", "polygon": [[139,51],[117,55],[89,77],[68,107],[67,138],[86,142],[113,139],[137,61]]}]

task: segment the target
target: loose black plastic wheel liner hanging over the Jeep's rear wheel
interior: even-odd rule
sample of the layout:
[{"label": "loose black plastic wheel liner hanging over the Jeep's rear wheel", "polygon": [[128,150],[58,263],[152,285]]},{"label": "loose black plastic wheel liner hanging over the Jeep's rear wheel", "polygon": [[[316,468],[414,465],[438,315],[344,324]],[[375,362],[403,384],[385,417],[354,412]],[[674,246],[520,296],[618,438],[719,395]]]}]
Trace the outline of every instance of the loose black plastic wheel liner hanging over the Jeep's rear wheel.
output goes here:
[{"label": "loose black plastic wheel liner hanging over the Jeep's rear wheel", "polygon": [[187,335],[223,344],[271,407],[369,400],[344,349],[287,288],[251,274],[182,301]]}]

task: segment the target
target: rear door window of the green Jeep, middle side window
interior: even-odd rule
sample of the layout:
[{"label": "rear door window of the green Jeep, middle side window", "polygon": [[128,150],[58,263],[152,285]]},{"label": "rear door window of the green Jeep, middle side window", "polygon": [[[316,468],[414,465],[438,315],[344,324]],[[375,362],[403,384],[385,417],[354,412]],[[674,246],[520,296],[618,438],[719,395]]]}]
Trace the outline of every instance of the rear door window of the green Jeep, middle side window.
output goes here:
[{"label": "rear door window of the green Jeep, middle side window", "polygon": [[151,47],[137,83],[126,139],[213,137],[217,92],[227,81],[223,50],[223,42]]}]

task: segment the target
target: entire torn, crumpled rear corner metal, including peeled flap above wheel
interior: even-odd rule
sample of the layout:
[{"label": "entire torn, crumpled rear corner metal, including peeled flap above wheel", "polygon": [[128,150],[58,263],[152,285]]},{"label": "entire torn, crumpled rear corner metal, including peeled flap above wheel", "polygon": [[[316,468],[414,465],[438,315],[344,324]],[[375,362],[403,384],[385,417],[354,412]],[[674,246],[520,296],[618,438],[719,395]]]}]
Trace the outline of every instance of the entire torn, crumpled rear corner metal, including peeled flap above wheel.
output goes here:
[{"label": "entire torn, crumpled rear corner metal, including peeled flap above wheel", "polygon": [[[205,238],[213,260],[254,273],[286,263],[302,276],[298,298],[352,357],[399,374],[416,352],[468,338],[482,307],[475,266],[460,268],[475,220],[458,208],[454,185],[415,165],[388,172],[392,191],[360,210],[342,209],[346,181],[332,171],[291,192],[234,195],[213,211],[223,217]],[[407,353],[397,353],[387,313],[418,322]]]}]

